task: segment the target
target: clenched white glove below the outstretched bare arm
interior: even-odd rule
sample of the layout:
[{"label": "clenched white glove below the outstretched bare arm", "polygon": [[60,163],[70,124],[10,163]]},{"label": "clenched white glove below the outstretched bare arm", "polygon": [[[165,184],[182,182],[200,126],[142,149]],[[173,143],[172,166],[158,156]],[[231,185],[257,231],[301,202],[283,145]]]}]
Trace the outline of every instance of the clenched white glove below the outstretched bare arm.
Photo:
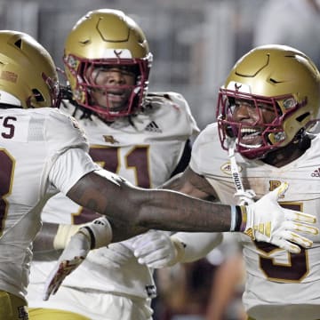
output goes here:
[{"label": "clenched white glove below the outstretched bare arm", "polygon": [[171,237],[164,231],[152,230],[136,236],[132,247],[138,262],[149,268],[169,267],[177,260],[176,247]]}]

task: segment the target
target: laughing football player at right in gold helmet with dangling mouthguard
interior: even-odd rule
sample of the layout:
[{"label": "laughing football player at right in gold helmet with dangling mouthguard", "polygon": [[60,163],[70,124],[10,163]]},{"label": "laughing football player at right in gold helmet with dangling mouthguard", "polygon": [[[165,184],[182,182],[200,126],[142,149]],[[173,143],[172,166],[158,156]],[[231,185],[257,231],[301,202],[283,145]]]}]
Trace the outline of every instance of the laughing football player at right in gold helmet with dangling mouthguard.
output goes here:
[{"label": "laughing football player at right in gold helmet with dangling mouthguard", "polygon": [[[320,75],[307,55],[284,45],[252,49],[220,88],[218,122],[196,139],[188,169],[164,187],[252,203],[288,181],[280,204],[319,217],[320,135],[312,133],[319,106]],[[312,247],[293,253],[239,236],[249,318],[319,319],[319,235],[311,236]],[[147,245],[136,253],[148,262]]]}]

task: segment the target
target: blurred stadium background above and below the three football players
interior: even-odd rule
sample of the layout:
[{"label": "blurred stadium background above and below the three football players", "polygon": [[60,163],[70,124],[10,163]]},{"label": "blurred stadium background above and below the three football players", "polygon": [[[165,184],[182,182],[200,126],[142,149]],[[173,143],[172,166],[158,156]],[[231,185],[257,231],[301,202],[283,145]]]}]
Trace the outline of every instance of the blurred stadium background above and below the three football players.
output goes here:
[{"label": "blurred stadium background above and below the three football players", "polygon": [[[149,90],[182,93],[201,129],[215,121],[229,69],[252,47],[289,44],[320,68],[320,0],[0,0],[0,28],[34,36],[63,68],[69,30],[100,8],[123,10],[138,22],[154,55]],[[155,319],[246,319],[244,268],[235,243],[231,239],[230,249],[224,242],[205,260],[157,272]],[[217,300],[223,289],[227,298]]]}]

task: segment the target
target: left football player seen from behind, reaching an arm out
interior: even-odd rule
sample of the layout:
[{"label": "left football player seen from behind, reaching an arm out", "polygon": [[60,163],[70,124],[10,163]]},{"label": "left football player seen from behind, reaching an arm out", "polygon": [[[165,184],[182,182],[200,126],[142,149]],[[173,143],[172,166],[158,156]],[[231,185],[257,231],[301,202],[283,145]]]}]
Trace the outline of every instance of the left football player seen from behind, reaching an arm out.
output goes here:
[{"label": "left football player seen from behind, reaching an arm out", "polygon": [[[257,204],[230,206],[132,186],[94,164],[76,119],[52,108],[59,104],[58,76],[44,47],[31,36],[10,30],[0,32],[0,42],[1,319],[28,319],[26,292],[32,241],[41,228],[45,202],[59,191],[89,210],[116,219],[112,220],[112,229],[102,217],[71,237],[58,268],[53,269],[44,297],[59,287],[60,280],[90,249],[111,240],[124,240],[146,228],[251,234],[256,223],[271,222],[268,236],[277,243],[274,237],[284,235],[283,227],[289,220],[294,224],[289,228],[293,231],[298,227],[294,222],[297,218],[306,222],[315,219],[281,209],[276,203],[278,193],[269,193]],[[266,205],[272,212],[271,219],[263,214]],[[282,218],[276,219],[279,215]],[[303,225],[308,232],[316,231],[308,223]],[[258,230],[253,235],[264,237]],[[289,249],[292,246],[286,240],[290,239],[282,237]],[[298,243],[311,244],[305,240],[301,237]]]}]

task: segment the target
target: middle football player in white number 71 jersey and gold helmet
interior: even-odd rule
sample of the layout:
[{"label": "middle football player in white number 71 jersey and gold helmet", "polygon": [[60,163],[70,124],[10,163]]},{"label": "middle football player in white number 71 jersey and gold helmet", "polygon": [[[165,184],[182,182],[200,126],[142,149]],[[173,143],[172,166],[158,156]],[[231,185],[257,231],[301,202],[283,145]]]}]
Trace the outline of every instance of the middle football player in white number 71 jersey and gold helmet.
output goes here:
[{"label": "middle football player in white number 71 jersey and gold helmet", "polygon": [[[88,12],[68,34],[63,61],[72,96],[60,110],[75,116],[84,128],[93,161],[142,188],[155,188],[186,168],[190,139],[199,129],[180,94],[148,92],[152,53],[135,21],[116,10]],[[42,218],[60,223],[60,230],[65,231],[65,225],[79,228],[97,218],[97,213],[60,194],[44,207]],[[43,232],[47,236],[45,227]],[[156,238],[154,244],[174,249],[169,236],[150,232]],[[56,236],[58,249],[64,246],[59,239],[60,234]],[[40,250],[43,240],[38,237],[35,243],[42,245]],[[152,269],[134,257],[133,241],[92,252],[46,302],[42,299],[44,281],[57,254],[36,254],[28,287],[30,316],[45,317],[58,308],[57,317],[66,310],[92,319],[106,319],[107,314],[114,320],[149,319],[156,285]]]}]

